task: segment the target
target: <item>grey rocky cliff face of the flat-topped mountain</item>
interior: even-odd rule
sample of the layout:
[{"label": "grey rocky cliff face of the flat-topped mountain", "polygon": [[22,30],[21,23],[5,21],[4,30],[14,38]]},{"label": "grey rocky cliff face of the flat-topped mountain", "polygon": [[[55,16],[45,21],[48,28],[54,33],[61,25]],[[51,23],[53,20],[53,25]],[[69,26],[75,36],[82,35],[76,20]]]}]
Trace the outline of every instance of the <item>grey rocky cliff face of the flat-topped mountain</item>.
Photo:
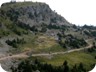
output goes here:
[{"label": "grey rocky cliff face of the flat-topped mountain", "polygon": [[[3,9],[6,8],[7,9]],[[45,23],[47,25],[67,25],[71,24],[62,16],[52,11],[45,3],[11,3],[3,4],[1,7],[11,20],[20,21],[25,24],[40,25]]]}]

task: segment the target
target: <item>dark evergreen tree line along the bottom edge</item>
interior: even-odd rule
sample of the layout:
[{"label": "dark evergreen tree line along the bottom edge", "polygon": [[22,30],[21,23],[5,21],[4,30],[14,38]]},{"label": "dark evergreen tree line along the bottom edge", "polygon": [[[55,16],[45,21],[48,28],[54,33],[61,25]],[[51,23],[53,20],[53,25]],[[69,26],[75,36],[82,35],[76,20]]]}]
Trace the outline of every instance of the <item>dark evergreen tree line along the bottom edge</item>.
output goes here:
[{"label": "dark evergreen tree line along the bottom edge", "polygon": [[[94,65],[91,65],[91,68]],[[34,61],[30,59],[23,60],[17,68],[12,66],[11,70],[12,72],[87,72],[83,63],[70,67],[68,62],[64,61],[61,66],[52,66],[51,64],[41,63],[38,59]]]}]

